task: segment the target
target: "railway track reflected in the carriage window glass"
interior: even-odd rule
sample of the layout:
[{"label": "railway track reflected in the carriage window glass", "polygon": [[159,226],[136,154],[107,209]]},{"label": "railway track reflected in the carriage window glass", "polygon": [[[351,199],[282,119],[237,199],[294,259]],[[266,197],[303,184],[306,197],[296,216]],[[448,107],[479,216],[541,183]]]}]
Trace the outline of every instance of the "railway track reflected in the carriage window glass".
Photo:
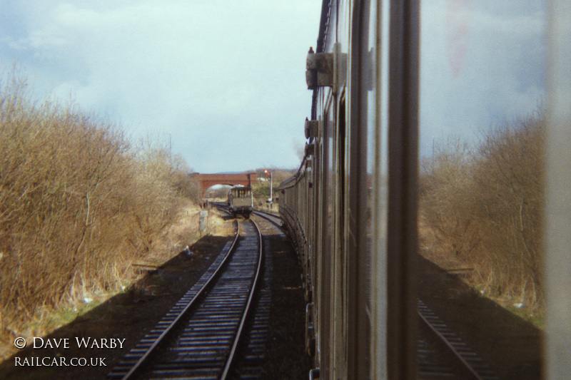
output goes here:
[{"label": "railway track reflected in the carriage window glass", "polygon": [[458,335],[418,300],[418,379],[498,380]]}]

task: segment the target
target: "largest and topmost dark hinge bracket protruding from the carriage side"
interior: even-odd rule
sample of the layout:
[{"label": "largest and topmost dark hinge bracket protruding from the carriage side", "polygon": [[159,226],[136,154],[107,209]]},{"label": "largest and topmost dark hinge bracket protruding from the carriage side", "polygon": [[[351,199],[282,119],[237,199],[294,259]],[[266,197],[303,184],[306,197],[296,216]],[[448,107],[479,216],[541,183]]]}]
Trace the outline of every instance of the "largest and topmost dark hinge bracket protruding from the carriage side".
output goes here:
[{"label": "largest and topmost dark hinge bracket protruding from the carriage side", "polygon": [[335,43],[333,53],[314,53],[313,48],[310,48],[305,69],[308,90],[332,87],[336,93],[338,86],[345,81],[347,54],[340,52],[340,43]]}]

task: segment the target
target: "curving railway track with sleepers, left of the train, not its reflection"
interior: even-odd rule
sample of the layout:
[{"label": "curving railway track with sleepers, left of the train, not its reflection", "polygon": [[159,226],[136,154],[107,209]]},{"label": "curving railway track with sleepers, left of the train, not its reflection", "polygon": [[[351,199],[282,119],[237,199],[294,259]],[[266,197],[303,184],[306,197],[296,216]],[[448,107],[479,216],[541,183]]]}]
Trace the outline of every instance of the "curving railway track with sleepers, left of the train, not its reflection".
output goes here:
[{"label": "curving railway track with sleepers, left of the train, not its reflection", "polygon": [[[236,223],[233,242],[226,244],[201,279],[108,378],[226,379],[230,376],[263,265],[262,236],[256,223],[251,220]],[[263,331],[263,317],[255,320],[253,326],[258,330],[248,333],[248,347],[256,352],[251,336]]]}]

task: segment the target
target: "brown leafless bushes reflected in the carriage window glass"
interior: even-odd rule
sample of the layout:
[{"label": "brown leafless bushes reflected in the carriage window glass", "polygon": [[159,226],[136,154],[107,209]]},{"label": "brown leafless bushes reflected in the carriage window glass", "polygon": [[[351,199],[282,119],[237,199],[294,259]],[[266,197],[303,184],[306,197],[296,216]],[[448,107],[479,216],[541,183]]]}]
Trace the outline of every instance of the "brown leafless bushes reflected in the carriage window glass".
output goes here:
[{"label": "brown leafless bushes reflected in the carriage window glass", "polygon": [[473,267],[482,292],[530,312],[543,296],[543,126],[537,114],[478,147],[450,140],[421,174],[421,235],[438,247],[433,255]]}]

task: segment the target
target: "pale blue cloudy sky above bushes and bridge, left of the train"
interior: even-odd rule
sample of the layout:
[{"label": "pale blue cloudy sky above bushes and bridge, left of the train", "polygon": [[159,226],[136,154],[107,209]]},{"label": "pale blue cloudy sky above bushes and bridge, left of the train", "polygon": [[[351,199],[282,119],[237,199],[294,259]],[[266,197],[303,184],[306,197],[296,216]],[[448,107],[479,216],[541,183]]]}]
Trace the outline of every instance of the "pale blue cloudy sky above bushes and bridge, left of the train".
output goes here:
[{"label": "pale blue cloudy sky above bushes and bridge, left of the train", "polygon": [[170,134],[194,170],[296,168],[320,5],[0,0],[0,60],[38,98],[71,96],[135,137]]}]

